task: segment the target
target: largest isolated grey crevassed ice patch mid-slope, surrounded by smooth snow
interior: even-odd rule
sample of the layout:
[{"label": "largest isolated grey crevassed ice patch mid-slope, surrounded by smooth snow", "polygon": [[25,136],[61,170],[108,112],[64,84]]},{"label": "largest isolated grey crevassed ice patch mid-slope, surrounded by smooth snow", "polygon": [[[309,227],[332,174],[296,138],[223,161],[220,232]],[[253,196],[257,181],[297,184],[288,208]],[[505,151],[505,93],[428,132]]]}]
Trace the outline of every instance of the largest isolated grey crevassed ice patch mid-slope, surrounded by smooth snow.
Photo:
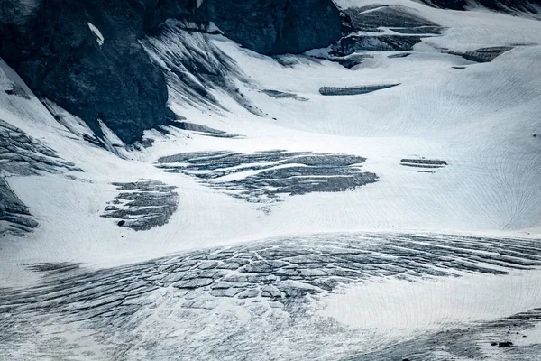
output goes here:
[{"label": "largest isolated grey crevassed ice patch mid-slope, surrounded by smooth snow", "polygon": [[377,181],[361,171],[366,159],[346,154],[268,151],[201,152],[161,157],[158,167],[188,174],[210,187],[251,202],[280,200],[280,195],[337,192]]}]

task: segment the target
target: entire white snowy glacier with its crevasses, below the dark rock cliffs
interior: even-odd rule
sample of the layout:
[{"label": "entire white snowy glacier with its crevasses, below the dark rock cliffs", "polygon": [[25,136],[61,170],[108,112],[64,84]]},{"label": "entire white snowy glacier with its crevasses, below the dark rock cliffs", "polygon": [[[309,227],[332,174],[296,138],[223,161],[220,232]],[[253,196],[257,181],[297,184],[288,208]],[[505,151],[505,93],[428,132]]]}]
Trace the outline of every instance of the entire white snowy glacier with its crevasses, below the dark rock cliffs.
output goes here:
[{"label": "entire white snowy glacier with its crevasses, below the dark rock cliffs", "polygon": [[441,32],[346,69],[170,22],[142,43],[182,118],[150,147],[87,142],[0,61],[28,208],[0,221],[0,359],[541,360],[541,22],[337,3]]}]

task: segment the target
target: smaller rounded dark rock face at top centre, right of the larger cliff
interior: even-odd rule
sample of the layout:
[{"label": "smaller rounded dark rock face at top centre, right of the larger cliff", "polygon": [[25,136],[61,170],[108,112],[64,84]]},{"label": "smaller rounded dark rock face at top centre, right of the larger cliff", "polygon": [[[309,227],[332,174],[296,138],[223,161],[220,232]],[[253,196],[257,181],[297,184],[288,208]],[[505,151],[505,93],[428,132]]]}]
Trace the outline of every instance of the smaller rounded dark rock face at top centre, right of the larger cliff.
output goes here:
[{"label": "smaller rounded dark rock face at top centre, right of the larger cliff", "polygon": [[206,0],[199,19],[263,54],[300,53],[340,39],[340,13],[325,0]]}]

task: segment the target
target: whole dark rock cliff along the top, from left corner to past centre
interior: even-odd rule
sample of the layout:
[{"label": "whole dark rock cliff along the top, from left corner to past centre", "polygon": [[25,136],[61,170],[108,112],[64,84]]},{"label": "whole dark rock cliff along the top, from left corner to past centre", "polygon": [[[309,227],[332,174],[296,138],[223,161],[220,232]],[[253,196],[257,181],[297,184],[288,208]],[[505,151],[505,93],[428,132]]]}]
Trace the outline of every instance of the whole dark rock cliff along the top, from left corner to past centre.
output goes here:
[{"label": "whole dark rock cliff along the top, from left corner to past centre", "polygon": [[0,57],[38,97],[81,117],[97,135],[101,120],[133,143],[145,129],[166,123],[166,80],[139,42],[166,19],[214,22],[235,42],[263,54],[303,52],[340,37],[340,15],[331,0],[198,3],[0,0]]}]

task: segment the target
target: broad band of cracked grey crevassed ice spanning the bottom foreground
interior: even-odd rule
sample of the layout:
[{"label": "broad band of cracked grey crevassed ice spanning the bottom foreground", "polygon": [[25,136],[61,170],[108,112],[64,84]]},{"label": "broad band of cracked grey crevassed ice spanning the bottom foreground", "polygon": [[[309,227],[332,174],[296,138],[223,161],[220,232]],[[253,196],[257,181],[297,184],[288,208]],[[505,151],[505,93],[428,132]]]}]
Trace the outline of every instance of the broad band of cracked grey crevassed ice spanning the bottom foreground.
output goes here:
[{"label": "broad band of cracked grey crevassed ice spanning the bottom foreground", "polygon": [[[241,360],[333,354],[336,359],[375,347],[380,350],[353,359],[427,361],[439,360],[430,356],[446,347],[442,357],[477,359],[483,351],[479,346],[464,351],[463,344],[473,342],[466,335],[491,333],[481,343],[509,341],[498,336],[502,329],[525,331],[536,325],[539,312],[419,335],[386,349],[385,339],[348,329],[316,310],[346,285],[371,280],[504,278],[539,266],[535,240],[341,234],[200,250],[99,271],[77,264],[30,265],[43,273],[41,285],[0,295],[0,356]],[[289,342],[297,346],[285,346]],[[516,359],[530,360],[527,355]]]}]

